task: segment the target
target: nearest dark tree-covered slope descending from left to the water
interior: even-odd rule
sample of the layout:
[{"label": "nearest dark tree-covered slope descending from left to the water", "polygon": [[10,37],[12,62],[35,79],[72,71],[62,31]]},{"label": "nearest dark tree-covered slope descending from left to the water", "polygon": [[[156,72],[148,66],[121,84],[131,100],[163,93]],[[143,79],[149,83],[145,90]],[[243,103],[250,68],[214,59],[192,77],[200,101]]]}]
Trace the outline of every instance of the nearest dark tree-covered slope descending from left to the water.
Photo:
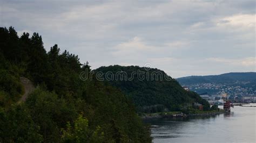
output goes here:
[{"label": "nearest dark tree-covered slope descending from left to the water", "polygon": [[[13,27],[1,27],[0,142],[151,142],[149,127],[124,92],[95,77],[80,80],[86,69],[88,63],[60,53],[57,45],[46,52],[38,33],[18,37]],[[36,89],[18,103],[25,92],[20,77]],[[186,101],[170,98],[176,99]]]}]

